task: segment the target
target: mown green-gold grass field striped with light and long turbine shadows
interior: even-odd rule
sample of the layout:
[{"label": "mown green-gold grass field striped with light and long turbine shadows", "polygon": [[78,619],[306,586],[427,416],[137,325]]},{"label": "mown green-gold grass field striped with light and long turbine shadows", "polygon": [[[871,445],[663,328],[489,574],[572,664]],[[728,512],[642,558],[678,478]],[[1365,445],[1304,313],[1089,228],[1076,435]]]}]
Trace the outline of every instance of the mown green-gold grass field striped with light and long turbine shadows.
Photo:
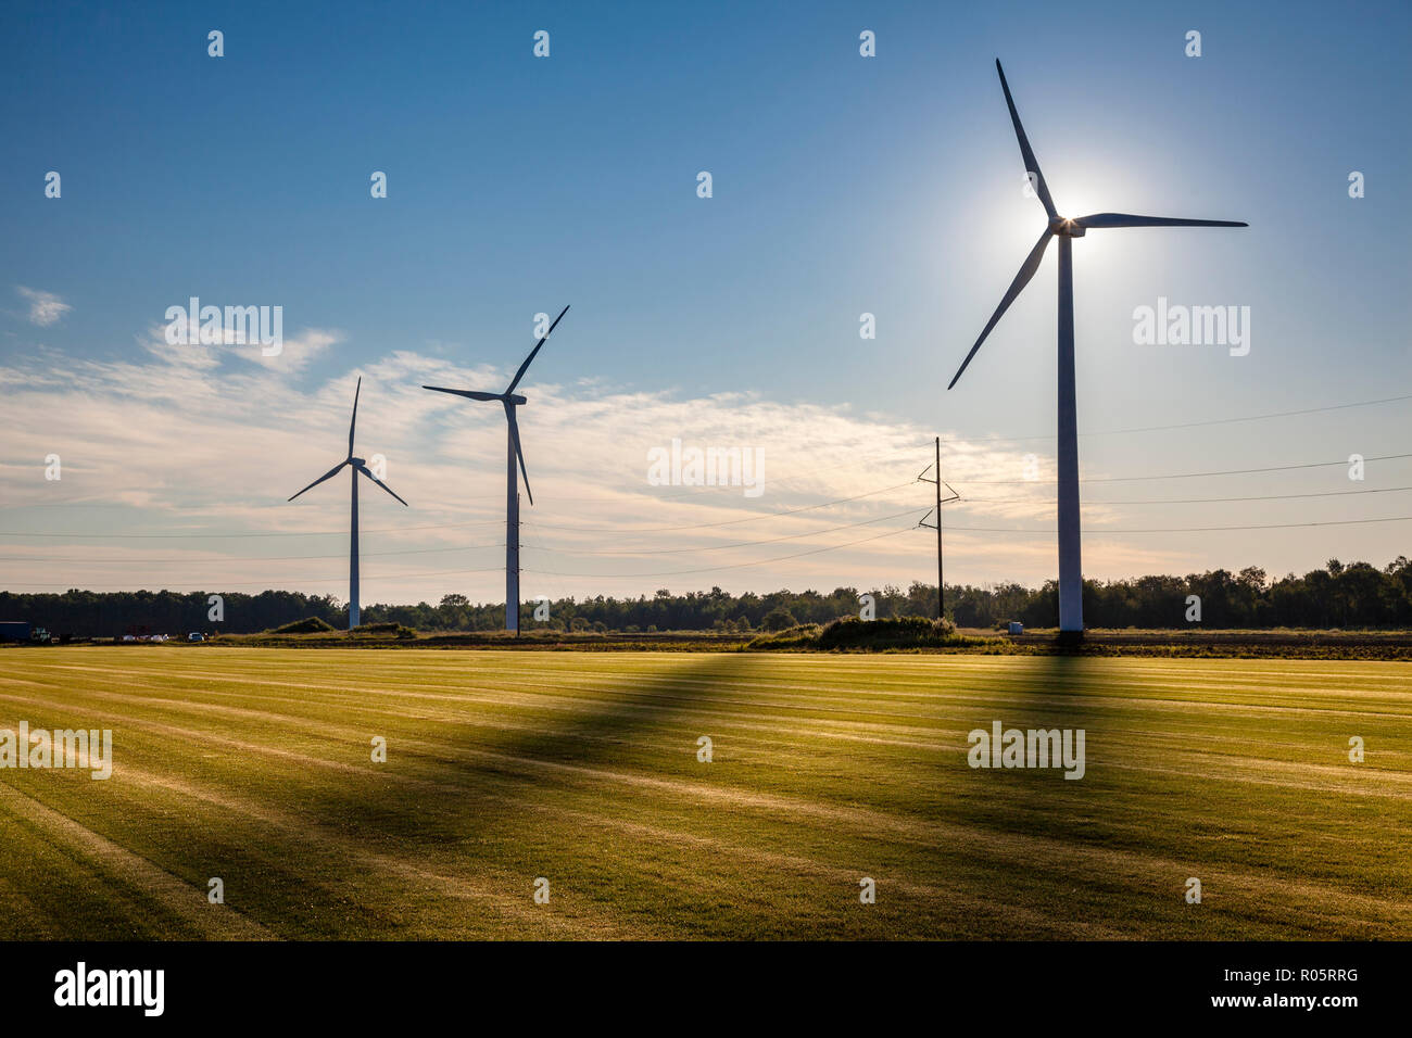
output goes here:
[{"label": "mown green-gold grass field striped with light and long turbine shadows", "polygon": [[75,647],[21,720],[114,765],[0,770],[4,938],[1412,938],[1405,662]]}]

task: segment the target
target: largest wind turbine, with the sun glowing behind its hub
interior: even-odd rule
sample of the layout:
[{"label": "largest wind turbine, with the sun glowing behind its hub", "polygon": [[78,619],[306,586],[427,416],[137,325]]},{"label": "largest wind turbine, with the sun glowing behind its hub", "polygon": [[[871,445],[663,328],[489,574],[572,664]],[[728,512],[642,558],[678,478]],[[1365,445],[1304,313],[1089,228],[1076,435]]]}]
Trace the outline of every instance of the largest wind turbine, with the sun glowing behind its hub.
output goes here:
[{"label": "largest wind turbine, with the sun glowing behind its hub", "polygon": [[986,336],[1000,321],[1001,315],[1015,301],[1015,297],[1029,284],[1029,280],[1039,270],[1049,239],[1059,239],[1059,637],[1077,640],[1083,637],[1083,565],[1079,555],[1079,422],[1077,405],[1073,388],[1073,240],[1083,237],[1093,229],[1106,227],[1247,227],[1248,223],[1238,220],[1182,220],[1168,216],[1130,216],[1128,213],[1094,213],[1093,216],[1066,217],[1055,209],[1049,196],[1049,185],[1039,171],[1035,153],[1025,137],[1025,127],[1019,124],[1019,113],[1015,112],[1015,100],[1010,96],[1010,85],[1005,82],[1005,69],[995,61],[995,71],[1000,73],[1000,86],[1005,92],[1005,105],[1010,107],[1010,120],[1015,124],[1015,137],[1019,138],[1019,154],[1025,160],[1025,171],[1034,184],[1035,193],[1049,215],[1049,225],[1039,241],[1029,250],[1024,266],[1010,282],[1010,290],[1000,301],[1000,306],[986,323],[971,352],[966,354],[956,377],[952,378],[952,388],[962,371],[976,356],[976,350],[986,342]]}]

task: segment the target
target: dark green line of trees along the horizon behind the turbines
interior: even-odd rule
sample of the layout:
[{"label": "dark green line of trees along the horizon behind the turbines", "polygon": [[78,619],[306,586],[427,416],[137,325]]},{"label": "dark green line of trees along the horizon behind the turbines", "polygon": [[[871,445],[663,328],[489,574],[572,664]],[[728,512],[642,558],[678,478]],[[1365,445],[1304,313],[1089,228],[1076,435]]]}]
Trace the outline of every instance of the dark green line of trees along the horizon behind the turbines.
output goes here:
[{"label": "dark green line of trees along the horizon behind the turbines", "polygon": [[[54,636],[121,637],[124,634],[185,634],[225,631],[253,634],[316,616],[333,627],[347,627],[347,609],[332,595],[267,590],[258,595],[169,590],[14,595],[0,592],[0,620],[28,620]],[[871,596],[877,617],[936,616],[936,585],[912,583],[907,590],[834,587],[833,592],[778,590],[731,595],[720,587],[672,595],[661,589],[637,597],[594,596],[521,606],[524,630],[566,631],[754,631],[781,630],[796,623],[827,623],[858,616]],[[1193,616],[1195,606],[1195,616]],[[215,614],[219,613],[219,619]],[[1059,623],[1059,586],[1019,583],[947,585],[946,616],[957,627],[995,627],[1018,620],[1028,627]],[[1330,559],[1303,576],[1269,579],[1250,566],[1233,573],[1213,569],[1187,576],[1139,576],[1125,580],[1086,580],[1083,616],[1089,627],[1412,627],[1412,562],[1399,555],[1378,569],[1367,562]],[[374,604],[363,609],[363,623],[400,623],[422,631],[493,631],[504,626],[504,606],[472,603],[446,595],[438,604]]]}]

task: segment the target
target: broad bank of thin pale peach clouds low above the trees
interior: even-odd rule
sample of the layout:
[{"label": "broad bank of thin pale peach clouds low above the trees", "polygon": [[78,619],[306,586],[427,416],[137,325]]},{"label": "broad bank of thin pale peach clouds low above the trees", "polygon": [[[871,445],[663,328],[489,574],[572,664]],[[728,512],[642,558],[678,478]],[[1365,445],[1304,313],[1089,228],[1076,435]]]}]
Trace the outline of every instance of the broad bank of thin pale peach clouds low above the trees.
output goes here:
[{"label": "broad bank of thin pale peach clouds low above the trees", "polygon": [[[436,602],[448,592],[498,600],[504,412],[421,387],[498,390],[511,371],[398,350],[315,384],[289,377],[339,342],[337,332],[304,329],[270,359],[281,367],[258,360],[257,346],[171,346],[151,328],[130,359],[49,350],[38,369],[0,366],[13,459],[0,465],[0,531],[48,535],[4,538],[6,586],[345,596],[346,477],[285,499],[346,456],[361,376],[356,452],[381,455],[388,486],[411,504],[360,484],[364,603]],[[592,381],[534,383],[525,395],[518,418],[535,500],[521,510],[527,597],[935,579],[935,541],[915,528],[933,493],[916,482],[932,460],[932,431],[915,422],[754,393]],[[764,496],[650,484],[648,452],[674,439],[760,452]],[[1028,451],[947,443],[946,479],[969,499],[946,511],[950,579],[1052,575],[1053,535],[1043,532],[1053,528],[1052,459],[1041,456],[1031,483]],[[49,453],[62,458],[61,482],[44,479]],[[1193,562],[1104,542],[1101,513],[1089,520],[1090,575],[1186,572]]]}]

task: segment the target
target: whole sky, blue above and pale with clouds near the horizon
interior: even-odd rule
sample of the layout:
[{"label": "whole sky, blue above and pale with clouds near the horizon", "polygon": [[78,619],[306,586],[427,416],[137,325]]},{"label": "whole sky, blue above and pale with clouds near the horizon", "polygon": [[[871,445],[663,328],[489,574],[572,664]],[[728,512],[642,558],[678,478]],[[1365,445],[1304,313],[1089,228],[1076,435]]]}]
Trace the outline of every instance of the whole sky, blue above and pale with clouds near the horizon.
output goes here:
[{"label": "whole sky, blue above and pale with clouds near the horizon", "polygon": [[[1076,243],[1080,431],[1347,404],[1412,384],[1405,246],[1412,220],[1399,205],[1404,171],[1412,168],[1406,4],[949,7],[145,4],[113,13],[96,4],[8,4],[0,16],[7,80],[0,93],[7,145],[0,369],[16,408],[0,418],[10,442],[0,449],[0,491],[10,499],[0,530],[62,523],[92,531],[83,551],[71,538],[65,558],[121,548],[128,561],[102,571],[110,586],[151,583],[158,573],[168,585],[217,580],[233,571],[143,569],[144,552],[162,554],[157,545],[130,549],[99,534],[161,531],[174,517],[198,513],[212,531],[282,523],[282,514],[271,520],[275,513],[264,510],[328,467],[321,459],[337,452],[346,418],[335,415],[346,411],[356,373],[383,371],[415,388],[419,373],[435,370],[483,376],[486,388],[501,388],[494,383],[532,343],[531,316],[565,302],[573,309],[531,370],[531,407],[521,418],[531,477],[542,473],[545,487],[535,484],[534,515],[545,524],[647,527],[659,514],[669,514],[664,524],[686,514],[686,503],[654,503],[642,486],[642,443],[672,436],[760,441],[781,476],[810,476],[755,503],[781,510],[882,486],[892,475],[881,472],[884,462],[921,469],[926,452],[914,465],[911,445],[936,431],[949,438],[1052,435],[1053,258],[957,388],[945,391],[1043,227],[1039,203],[1021,193],[1024,169],[994,73],[997,56],[1060,212],[1251,225],[1091,232]],[[212,28],[225,32],[219,59],[206,54]],[[531,54],[541,28],[551,34],[548,59]],[[1183,55],[1193,28],[1202,32],[1200,58]],[[875,58],[860,58],[861,30],[877,34]],[[61,199],[44,198],[49,169],[62,174]],[[387,172],[387,199],[369,196],[374,169]],[[702,169],[713,175],[710,199],[696,196]],[[1347,195],[1354,169],[1367,177],[1367,196],[1357,201]],[[32,297],[20,287],[69,309],[35,323]],[[287,369],[239,356],[210,367],[158,356],[148,347],[152,326],[191,295],[282,305],[287,335],[315,347]],[[1250,354],[1134,345],[1132,309],[1158,297],[1250,306]],[[875,315],[875,340],[858,339],[861,312]],[[198,369],[188,371],[199,378],[188,388],[206,410],[160,394],[144,404],[134,387],[150,390],[184,364]],[[78,388],[58,377],[69,369],[79,373]],[[369,435],[377,435],[378,387],[370,381],[364,390]],[[234,401],[227,395],[234,391],[253,398]],[[270,405],[261,410],[258,398]],[[391,386],[383,398],[391,398]],[[287,410],[274,410],[275,401]],[[561,407],[537,412],[541,401]],[[647,402],[634,411],[634,401]],[[69,417],[85,404],[107,415],[113,435],[97,418],[86,432],[75,428]],[[109,507],[131,490],[119,462],[137,448],[107,462],[99,460],[100,448],[120,439],[119,426],[148,425],[144,405],[151,428],[174,422],[175,442],[144,446],[161,452],[162,467],[134,469],[131,477],[141,475],[148,487],[155,479],[164,491]],[[435,508],[452,518],[476,496],[496,497],[503,448],[491,445],[503,432],[494,414],[426,407],[435,410],[388,412],[384,428],[397,422],[400,438],[388,441],[401,452],[393,472],[422,491],[414,504],[435,523]],[[299,425],[321,408],[328,422]],[[762,410],[771,417],[761,418]],[[20,428],[25,414],[45,418]],[[572,426],[570,414],[583,425]],[[1406,415],[1404,402],[1091,436],[1082,441],[1080,458],[1089,476],[1247,469],[1354,452],[1371,458],[1408,449]],[[319,443],[325,426],[328,442]],[[201,428],[210,428],[212,439],[196,449],[193,429]],[[202,482],[202,466],[220,458],[217,428],[232,452],[240,452],[243,435],[263,445],[249,480]],[[788,429],[796,435],[785,439]],[[277,446],[281,434],[288,452]],[[779,439],[761,439],[774,434]],[[592,448],[592,466],[569,463],[566,436]],[[35,483],[45,439],[72,458],[62,490]],[[628,442],[631,451],[623,448]],[[1022,451],[1048,458],[1052,443],[1034,441]],[[462,477],[457,460],[470,466],[463,479],[473,486],[457,491],[465,501],[448,487]],[[960,472],[980,480],[1014,460],[993,456]],[[261,493],[263,476],[278,486]],[[586,479],[593,480],[587,489]],[[1121,484],[1124,493],[1110,497],[1351,486],[1339,479],[1339,470],[1323,469]],[[390,482],[398,486],[395,475]],[[1370,466],[1357,489],[1405,484],[1412,484],[1412,465],[1401,460]],[[569,504],[597,487],[611,487],[614,500]],[[47,494],[48,510],[20,507]],[[973,496],[981,494],[973,489]],[[89,511],[59,507],[78,497]],[[709,521],[719,497],[703,493],[690,506]],[[925,493],[904,496],[897,507],[914,497]],[[321,528],[337,525],[340,501],[329,494],[311,504],[323,510]],[[1096,511],[1089,530],[1333,521],[1412,514],[1409,504],[1412,496],[1387,493],[1124,507]],[[878,506],[878,513],[810,518],[825,530],[891,507]],[[1003,514],[973,506],[949,521],[984,525],[980,520]],[[1046,521],[1042,508],[1011,518],[1035,528]],[[370,527],[393,521],[364,518]],[[809,528],[782,520],[754,527],[760,538]],[[1284,572],[1330,555],[1384,563],[1405,549],[1406,530],[1202,534],[1156,545],[1090,538],[1086,571],[1117,576],[1254,562]],[[798,547],[830,537],[854,539],[820,534]],[[960,538],[949,572],[1029,582],[1052,573],[1052,541],[1027,537],[1018,547],[1005,539]],[[7,544],[32,552],[35,565],[56,556],[40,538]],[[678,542],[654,537],[642,545],[658,551]],[[928,576],[925,544],[897,537],[882,545],[665,583],[720,582],[738,590]],[[250,556],[249,544],[202,547],[212,558]],[[337,539],[323,547],[335,554]],[[777,547],[716,558],[771,552],[785,554]],[[493,556],[476,565],[489,569]],[[712,556],[674,558],[682,569],[712,565]],[[576,573],[607,572],[600,558],[561,561]],[[21,576],[34,585],[96,582],[86,580],[92,571],[82,565],[42,565],[42,575]],[[493,573],[450,578],[446,559],[397,565],[398,572],[421,566],[439,575],[374,583],[366,600],[438,597],[450,589],[496,593]],[[633,565],[644,573],[675,566],[620,565],[613,590],[664,583],[627,579],[621,573]],[[455,566],[476,568],[466,556]],[[287,576],[278,571],[268,573],[271,583]],[[311,589],[339,590],[336,566],[308,572],[328,578]],[[556,590],[589,589],[607,587],[585,579]]]}]

